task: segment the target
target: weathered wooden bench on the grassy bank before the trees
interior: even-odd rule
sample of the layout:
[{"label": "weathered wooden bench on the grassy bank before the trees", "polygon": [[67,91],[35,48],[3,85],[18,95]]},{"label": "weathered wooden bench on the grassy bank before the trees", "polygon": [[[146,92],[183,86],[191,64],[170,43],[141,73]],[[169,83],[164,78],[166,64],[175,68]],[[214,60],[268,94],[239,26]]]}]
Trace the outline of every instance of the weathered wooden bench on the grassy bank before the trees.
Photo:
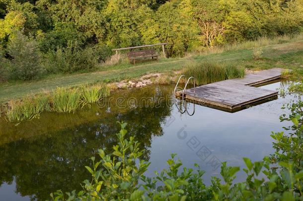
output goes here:
[{"label": "weathered wooden bench on the grassy bank before the trees", "polygon": [[136,61],[148,61],[156,60],[158,61],[158,54],[155,50],[140,50],[127,53],[127,57],[130,60],[131,64],[136,64]]}]

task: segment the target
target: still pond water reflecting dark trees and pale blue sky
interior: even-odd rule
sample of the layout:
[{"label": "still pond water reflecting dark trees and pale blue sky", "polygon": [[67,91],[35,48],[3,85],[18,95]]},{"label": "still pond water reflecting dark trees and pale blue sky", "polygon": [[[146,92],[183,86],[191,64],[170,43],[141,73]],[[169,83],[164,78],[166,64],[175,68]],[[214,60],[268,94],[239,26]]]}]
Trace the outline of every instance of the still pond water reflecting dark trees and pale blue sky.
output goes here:
[{"label": "still pond water reflecting dark trees and pale blue sky", "polygon": [[[266,89],[287,88],[276,82]],[[242,157],[261,160],[273,153],[271,132],[283,131],[279,116],[293,96],[252,106],[235,113],[196,105],[195,113],[181,114],[173,104],[172,85],[151,85],[116,91],[99,104],[75,114],[43,113],[39,119],[18,125],[0,120],[0,197],[5,201],[45,200],[49,194],[81,190],[90,178],[85,165],[98,148],[111,149],[119,131],[117,121],[128,123],[151,162],[148,176],[167,167],[176,153],[184,166],[198,163],[205,182],[219,176],[220,162],[244,167]],[[194,109],[188,104],[189,113]],[[244,174],[239,173],[237,181]]]}]

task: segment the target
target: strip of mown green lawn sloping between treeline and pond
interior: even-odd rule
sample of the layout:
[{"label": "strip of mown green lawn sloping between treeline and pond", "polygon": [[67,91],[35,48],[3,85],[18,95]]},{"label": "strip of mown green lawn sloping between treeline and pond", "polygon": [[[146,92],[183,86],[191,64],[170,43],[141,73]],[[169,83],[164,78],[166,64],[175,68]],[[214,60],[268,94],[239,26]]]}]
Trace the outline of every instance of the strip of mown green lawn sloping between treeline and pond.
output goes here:
[{"label": "strip of mown green lawn sloping between treeline and pond", "polygon": [[180,70],[191,61],[235,62],[249,69],[267,69],[283,67],[294,69],[296,74],[303,75],[303,41],[269,45],[262,48],[263,57],[258,61],[252,60],[252,49],[231,50],[218,54],[193,56],[181,59],[161,59],[159,62],[141,63],[138,65],[115,65],[99,69],[96,72],[77,73],[72,75],[55,75],[42,80],[31,82],[13,82],[0,84],[0,103],[14,98],[56,87],[68,87],[96,82],[108,82],[121,79],[137,78],[151,72],[168,72]]}]

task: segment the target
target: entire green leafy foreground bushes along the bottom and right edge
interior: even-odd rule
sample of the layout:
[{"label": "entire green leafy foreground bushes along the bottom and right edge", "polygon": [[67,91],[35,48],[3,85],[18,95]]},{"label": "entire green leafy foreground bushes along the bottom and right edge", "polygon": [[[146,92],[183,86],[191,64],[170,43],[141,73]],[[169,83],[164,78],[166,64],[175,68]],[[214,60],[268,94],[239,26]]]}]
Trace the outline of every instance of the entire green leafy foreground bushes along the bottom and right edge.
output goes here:
[{"label": "entire green leafy foreground bushes along the bottom and right edge", "polygon": [[291,134],[273,133],[276,152],[264,157],[262,161],[252,162],[243,158],[246,180],[236,183],[236,173],[240,167],[221,166],[221,177],[212,177],[211,185],[206,186],[202,176],[204,171],[196,172],[182,166],[172,154],[167,160],[169,167],[155,178],[144,173],[149,162],[140,159],[143,150],[134,137],[125,139],[126,123],[121,123],[117,134],[118,144],[110,154],[98,150],[99,161],[92,157],[92,167],[85,166],[92,178],[83,182],[83,191],[64,194],[52,193],[53,200],[127,200],[127,201],[295,201],[303,197],[303,101],[289,104],[291,114],[281,116],[282,121],[291,121],[287,129]]}]

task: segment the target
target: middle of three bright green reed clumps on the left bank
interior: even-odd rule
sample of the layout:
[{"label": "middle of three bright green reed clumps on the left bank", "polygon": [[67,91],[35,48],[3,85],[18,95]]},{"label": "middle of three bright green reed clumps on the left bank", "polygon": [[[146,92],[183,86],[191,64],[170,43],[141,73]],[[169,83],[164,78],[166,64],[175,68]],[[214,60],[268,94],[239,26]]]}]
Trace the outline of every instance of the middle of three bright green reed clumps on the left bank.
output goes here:
[{"label": "middle of three bright green reed clumps on the left bank", "polygon": [[77,88],[58,87],[51,94],[52,111],[74,112],[81,105],[81,93]]}]

